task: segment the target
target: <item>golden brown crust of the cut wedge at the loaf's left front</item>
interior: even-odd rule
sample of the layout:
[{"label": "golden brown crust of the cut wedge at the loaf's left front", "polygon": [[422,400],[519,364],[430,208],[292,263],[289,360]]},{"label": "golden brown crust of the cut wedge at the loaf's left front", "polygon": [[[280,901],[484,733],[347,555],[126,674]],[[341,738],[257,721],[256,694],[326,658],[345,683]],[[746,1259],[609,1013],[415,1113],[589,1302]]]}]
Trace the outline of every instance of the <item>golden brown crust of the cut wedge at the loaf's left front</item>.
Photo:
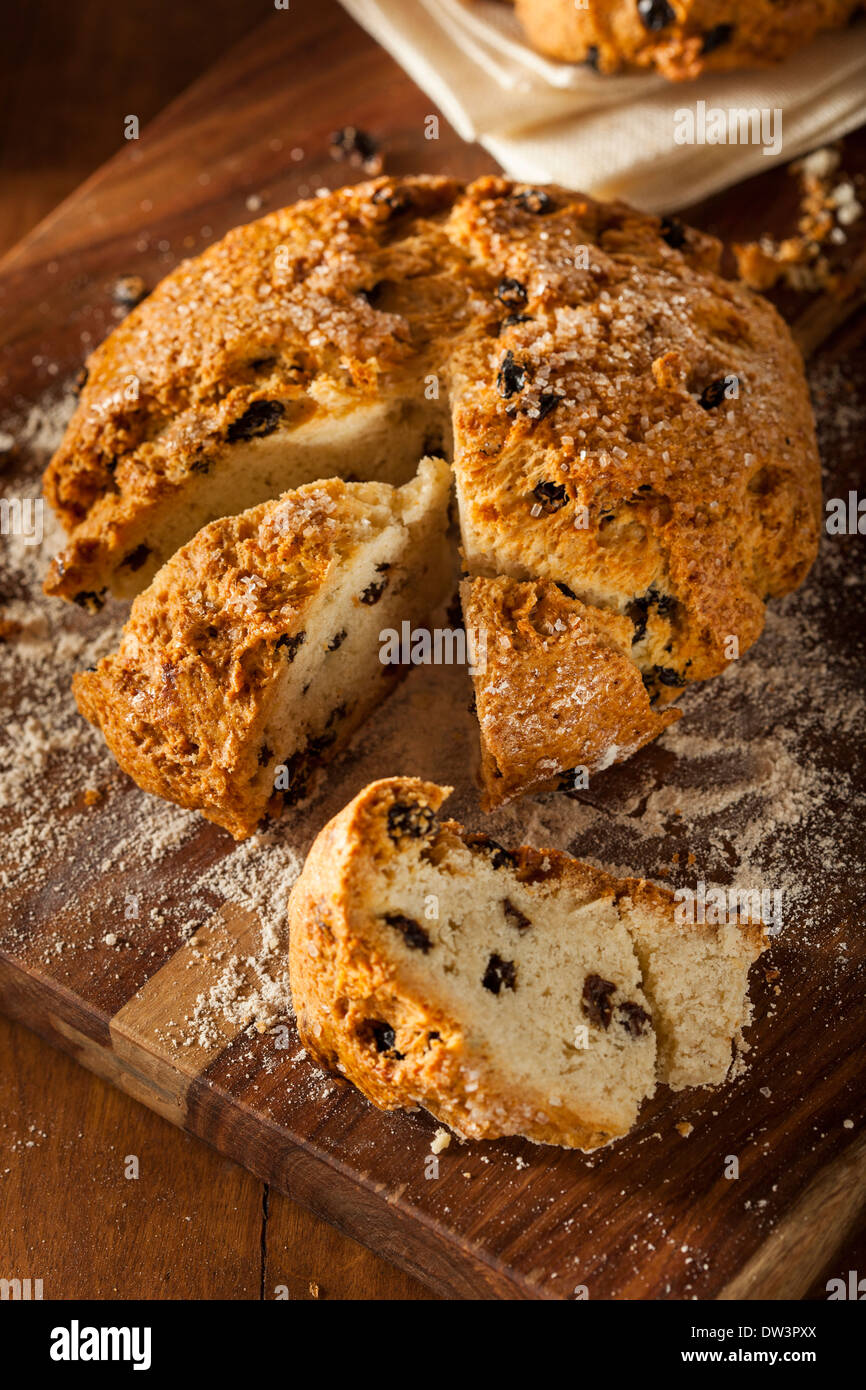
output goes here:
[{"label": "golden brown crust of the cut wedge at the loaf's left front", "polygon": [[[354,543],[352,517],[325,525],[345,493],[329,480],[204,527],[135,600],[118,651],[74,681],[82,714],[139,787],[235,835],[264,813],[256,767],[285,660],[277,642],[303,628],[335,557]],[[292,513],[302,512],[299,530]],[[282,516],[285,528],[274,524]]]}]

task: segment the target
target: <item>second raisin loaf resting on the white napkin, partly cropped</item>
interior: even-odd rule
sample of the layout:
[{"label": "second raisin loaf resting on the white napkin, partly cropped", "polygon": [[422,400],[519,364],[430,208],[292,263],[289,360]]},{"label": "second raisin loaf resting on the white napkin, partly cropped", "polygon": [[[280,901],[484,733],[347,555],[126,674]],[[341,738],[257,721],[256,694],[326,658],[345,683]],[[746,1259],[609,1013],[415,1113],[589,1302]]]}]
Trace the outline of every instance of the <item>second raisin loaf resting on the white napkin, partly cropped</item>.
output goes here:
[{"label": "second raisin loaf resting on the white napkin, partly cropped", "polygon": [[765,67],[847,24],[862,0],[516,0],[530,43],[596,72],[656,68],[680,82]]}]

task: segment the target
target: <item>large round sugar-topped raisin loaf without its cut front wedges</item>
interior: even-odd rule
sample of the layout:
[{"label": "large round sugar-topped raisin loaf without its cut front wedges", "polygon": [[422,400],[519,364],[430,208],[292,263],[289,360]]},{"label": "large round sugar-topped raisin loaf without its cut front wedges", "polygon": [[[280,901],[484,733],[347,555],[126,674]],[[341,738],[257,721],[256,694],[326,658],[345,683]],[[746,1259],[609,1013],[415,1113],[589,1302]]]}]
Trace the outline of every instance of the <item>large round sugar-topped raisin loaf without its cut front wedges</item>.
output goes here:
[{"label": "large round sugar-topped raisin loaf without its cut front wedges", "polygon": [[[559,585],[598,637],[580,657],[610,714],[553,762],[602,731],[598,766],[624,756],[666,723],[635,671],[657,712],[723,670],[817,546],[799,354],[719,254],[499,178],[381,178],[236,229],[90,357],[46,474],[71,532],[49,592],[132,594],[211,517],[331,473],[406,481],[443,450],[470,577]],[[514,790],[544,771],[523,763]]]}]

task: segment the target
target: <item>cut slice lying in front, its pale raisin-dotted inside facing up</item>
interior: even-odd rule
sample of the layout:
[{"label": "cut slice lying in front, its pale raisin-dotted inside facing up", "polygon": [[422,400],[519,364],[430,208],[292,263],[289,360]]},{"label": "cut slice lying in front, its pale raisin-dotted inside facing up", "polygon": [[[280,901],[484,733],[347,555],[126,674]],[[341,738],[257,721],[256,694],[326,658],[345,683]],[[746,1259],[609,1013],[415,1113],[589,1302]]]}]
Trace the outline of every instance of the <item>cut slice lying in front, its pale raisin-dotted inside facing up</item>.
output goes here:
[{"label": "cut slice lying in front, its pale raisin-dotted inside facing up", "polygon": [[441,821],[446,796],[378,781],[316,840],[289,899],[310,1054],[382,1109],[582,1150],[656,1081],[721,1083],[760,927],[680,926],[664,890]]}]

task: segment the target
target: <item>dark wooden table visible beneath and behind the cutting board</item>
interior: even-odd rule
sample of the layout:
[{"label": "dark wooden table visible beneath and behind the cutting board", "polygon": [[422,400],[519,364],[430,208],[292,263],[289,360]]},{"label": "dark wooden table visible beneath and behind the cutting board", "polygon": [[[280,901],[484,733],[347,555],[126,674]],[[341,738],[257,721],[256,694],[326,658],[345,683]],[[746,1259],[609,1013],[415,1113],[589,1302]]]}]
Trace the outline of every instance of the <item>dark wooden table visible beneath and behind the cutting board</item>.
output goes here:
[{"label": "dark wooden table visible beneath and behind the cutting board", "polygon": [[[121,146],[128,114],[145,128],[263,17],[236,0],[11,7],[0,256]],[[0,1211],[0,1277],[53,1298],[434,1297],[1,1016]]]}]

